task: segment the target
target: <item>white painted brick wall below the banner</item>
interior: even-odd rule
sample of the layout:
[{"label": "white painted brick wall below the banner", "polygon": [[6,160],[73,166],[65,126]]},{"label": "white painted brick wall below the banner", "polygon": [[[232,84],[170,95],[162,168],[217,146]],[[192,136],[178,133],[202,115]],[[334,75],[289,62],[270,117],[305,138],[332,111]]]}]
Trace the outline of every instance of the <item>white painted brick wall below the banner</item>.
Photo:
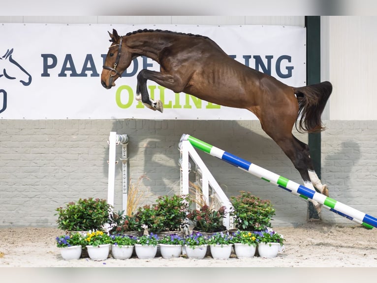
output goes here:
[{"label": "white painted brick wall below the banner", "polygon": [[[322,179],[330,196],[377,215],[376,121],[326,121]],[[55,209],[80,197],[107,197],[109,133],[129,137],[129,177],[143,174],[151,195],[179,193],[178,142],[183,133],[236,154],[283,177],[301,178],[258,121],[1,120],[0,227],[56,226]],[[296,135],[296,134],[295,134]],[[296,135],[307,142],[307,135]],[[117,146],[117,159],[121,156]],[[251,190],[276,208],[274,225],[307,220],[306,201],[199,152],[228,196]],[[121,163],[116,166],[115,209],[122,208]],[[354,224],[323,210],[323,221]]]}]

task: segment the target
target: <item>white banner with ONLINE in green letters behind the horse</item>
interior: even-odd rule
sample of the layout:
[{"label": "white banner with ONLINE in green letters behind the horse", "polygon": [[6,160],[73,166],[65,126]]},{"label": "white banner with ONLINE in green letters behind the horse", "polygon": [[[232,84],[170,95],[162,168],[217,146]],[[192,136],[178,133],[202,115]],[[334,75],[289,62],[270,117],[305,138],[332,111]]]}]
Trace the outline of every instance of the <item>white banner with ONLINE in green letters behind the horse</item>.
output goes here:
[{"label": "white banner with ONLINE in green letters behind the horse", "polygon": [[1,119],[203,119],[251,120],[248,110],[213,105],[175,94],[148,81],[151,97],[164,112],[135,100],[136,75],[159,71],[157,62],[138,57],[116,86],[100,83],[110,46],[108,31],[126,35],[160,29],[205,35],[235,60],[291,86],[306,85],[306,29],[289,26],[61,25],[0,26]]}]

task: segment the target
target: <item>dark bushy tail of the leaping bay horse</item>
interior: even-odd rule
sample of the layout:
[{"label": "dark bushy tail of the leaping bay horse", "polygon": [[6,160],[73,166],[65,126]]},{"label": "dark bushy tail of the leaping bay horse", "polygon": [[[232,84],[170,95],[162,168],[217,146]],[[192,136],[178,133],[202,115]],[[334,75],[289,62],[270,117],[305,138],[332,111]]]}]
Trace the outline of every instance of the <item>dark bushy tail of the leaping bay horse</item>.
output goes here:
[{"label": "dark bushy tail of the leaping bay horse", "polygon": [[297,123],[296,129],[309,133],[323,131],[325,128],[322,125],[321,114],[333,90],[332,84],[324,81],[293,89],[298,101],[298,115],[301,115],[299,129]]}]

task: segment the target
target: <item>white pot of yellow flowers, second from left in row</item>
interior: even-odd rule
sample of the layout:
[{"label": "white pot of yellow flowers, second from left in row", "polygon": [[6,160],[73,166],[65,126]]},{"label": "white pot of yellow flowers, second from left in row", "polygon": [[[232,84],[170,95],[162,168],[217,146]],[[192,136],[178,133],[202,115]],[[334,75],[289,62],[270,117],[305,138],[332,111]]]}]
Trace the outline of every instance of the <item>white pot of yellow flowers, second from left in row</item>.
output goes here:
[{"label": "white pot of yellow flowers, second from left in row", "polygon": [[89,257],[93,260],[105,260],[109,256],[111,238],[103,231],[89,232],[84,238]]}]

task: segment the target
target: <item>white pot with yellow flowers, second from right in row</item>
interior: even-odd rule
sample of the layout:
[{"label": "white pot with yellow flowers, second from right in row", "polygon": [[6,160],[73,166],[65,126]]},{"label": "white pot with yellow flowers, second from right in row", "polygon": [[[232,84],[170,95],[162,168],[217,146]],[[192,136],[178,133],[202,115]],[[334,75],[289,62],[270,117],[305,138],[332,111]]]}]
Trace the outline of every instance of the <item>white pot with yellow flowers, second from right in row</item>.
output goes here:
[{"label": "white pot with yellow flowers, second from right in row", "polygon": [[257,243],[257,235],[250,231],[238,230],[233,233],[234,251],[238,258],[253,257]]}]

